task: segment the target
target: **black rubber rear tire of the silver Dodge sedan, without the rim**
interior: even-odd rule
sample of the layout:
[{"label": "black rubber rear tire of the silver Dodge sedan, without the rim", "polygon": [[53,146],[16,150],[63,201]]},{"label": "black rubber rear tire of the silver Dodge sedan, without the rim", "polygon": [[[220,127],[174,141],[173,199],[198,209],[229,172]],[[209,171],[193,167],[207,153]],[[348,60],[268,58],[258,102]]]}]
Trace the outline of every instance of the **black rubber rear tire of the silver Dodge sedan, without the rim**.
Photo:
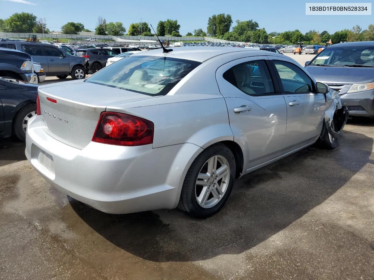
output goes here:
[{"label": "black rubber rear tire of the silver Dodge sedan, without the rim", "polygon": [[[230,167],[230,179],[227,185],[226,192],[224,192],[221,199],[217,204],[211,208],[203,208],[199,205],[195,195],[195,187],[197,175],[206,163],[208,159],[212,156],[223,156],[226,158]],[[236,163],[234,155],[231,150],[224,144],[214,144],[208,147],[193,161],[190,168],[187,171],[186,177],[184,178],[180,200],[178,203],[178,208],[189,216],[196,218],[208,218],[213,214],[217,213],[222,206],[226,203],[230,196],[231,190],[234,185],[236,173]]]}]

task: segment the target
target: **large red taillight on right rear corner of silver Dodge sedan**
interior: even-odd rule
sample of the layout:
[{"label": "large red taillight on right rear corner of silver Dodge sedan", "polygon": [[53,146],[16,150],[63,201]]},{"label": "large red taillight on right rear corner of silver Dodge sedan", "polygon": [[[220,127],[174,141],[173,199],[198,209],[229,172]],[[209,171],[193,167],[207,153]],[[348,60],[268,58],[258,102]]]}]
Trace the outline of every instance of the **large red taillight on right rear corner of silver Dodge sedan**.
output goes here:
[{"label": "large red taillight on right rear corner of silver Dodge sedan", "polygon": [[102,112],[92,141],[119,146],[153,143],[154,124],[123,113]]}]

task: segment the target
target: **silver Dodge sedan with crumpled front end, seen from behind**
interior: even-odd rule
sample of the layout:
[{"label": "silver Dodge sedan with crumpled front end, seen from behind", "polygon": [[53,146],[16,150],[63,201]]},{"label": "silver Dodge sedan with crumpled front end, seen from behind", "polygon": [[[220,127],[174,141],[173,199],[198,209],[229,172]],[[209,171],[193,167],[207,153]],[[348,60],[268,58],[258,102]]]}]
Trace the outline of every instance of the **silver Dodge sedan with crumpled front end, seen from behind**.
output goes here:
[{"label": "silver Dodge sedan with crumpled front end, seen from behind", "polygon": [[337,146],[348,111],[295,60],[244,48],[135,53],[86,80],[39,87],[26,156],[103,212],[209,217],[234,180],[312,144]]}]

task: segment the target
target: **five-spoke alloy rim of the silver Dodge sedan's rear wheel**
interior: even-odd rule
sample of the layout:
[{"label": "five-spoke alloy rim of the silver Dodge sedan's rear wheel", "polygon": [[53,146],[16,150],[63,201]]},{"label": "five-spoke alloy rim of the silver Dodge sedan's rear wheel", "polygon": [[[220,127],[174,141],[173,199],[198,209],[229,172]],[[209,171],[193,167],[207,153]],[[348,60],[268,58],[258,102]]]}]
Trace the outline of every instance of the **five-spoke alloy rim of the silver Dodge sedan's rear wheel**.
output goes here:
[{"label": "five-spoke alloy rim of the silver Dodge sedan's rear wheel", "polygon": [[197,175],[195,197],[202,208],[216,205],[229,186],[230,164],[224,156],[212,156]]}]

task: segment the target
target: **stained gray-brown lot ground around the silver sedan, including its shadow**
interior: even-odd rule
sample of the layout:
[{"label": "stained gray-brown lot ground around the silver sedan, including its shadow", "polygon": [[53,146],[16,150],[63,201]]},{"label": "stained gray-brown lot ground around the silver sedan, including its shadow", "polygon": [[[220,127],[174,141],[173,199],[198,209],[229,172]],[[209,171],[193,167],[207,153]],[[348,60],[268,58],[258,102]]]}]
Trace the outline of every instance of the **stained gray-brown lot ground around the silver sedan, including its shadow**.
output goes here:
[{"label": "stained gray-brown lot ground around the silver sedan, including its shadow", "polygon": [[95,211],[52,189],[23,143],[0,140],[0,279],[374,279],[373,141],[372,119],[350,120],[337,149],[246,175],[195,220]]}]

